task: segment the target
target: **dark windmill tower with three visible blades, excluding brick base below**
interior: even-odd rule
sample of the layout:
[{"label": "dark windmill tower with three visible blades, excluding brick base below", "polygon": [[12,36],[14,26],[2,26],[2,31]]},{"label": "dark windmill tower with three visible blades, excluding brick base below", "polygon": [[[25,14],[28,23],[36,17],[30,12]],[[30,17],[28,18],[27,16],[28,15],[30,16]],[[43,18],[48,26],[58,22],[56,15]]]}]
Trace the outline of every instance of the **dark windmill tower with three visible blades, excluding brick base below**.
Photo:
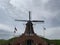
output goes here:
[{"label": "dark windmill tower with three visible blades, excluding brick base below", "polygon": [[31,12],[30,11],[29,11],[29,20],[15,19],[15,21],[27,22],[24,34],[28,34],[28,35],[34,34],[34,29],[33,29],[33,23],[32,22],[42,22],[42,23],[44,23],[44,20],[31,20]]}]

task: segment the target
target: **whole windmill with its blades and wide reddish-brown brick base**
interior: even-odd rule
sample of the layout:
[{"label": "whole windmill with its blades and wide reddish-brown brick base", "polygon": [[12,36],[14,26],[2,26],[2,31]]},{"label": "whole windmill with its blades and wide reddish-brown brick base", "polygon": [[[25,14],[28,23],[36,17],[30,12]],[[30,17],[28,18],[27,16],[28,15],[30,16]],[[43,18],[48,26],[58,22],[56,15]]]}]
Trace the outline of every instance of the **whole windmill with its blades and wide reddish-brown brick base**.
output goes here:
[{"label": "whole windmill with its blades and wide reddish-brown brick base", "polygon": [[25,32],[17,37],[14,41],[12,41],[12,45],[48,45],[46,40],[42,37],[39,37],[35,34],[33,29],[33,23],[32,22],[42,22],[43,20],[31,20],[31,12],[29,11],[29,20],[18,20],[15,21],[23,21],[26,23]]}]

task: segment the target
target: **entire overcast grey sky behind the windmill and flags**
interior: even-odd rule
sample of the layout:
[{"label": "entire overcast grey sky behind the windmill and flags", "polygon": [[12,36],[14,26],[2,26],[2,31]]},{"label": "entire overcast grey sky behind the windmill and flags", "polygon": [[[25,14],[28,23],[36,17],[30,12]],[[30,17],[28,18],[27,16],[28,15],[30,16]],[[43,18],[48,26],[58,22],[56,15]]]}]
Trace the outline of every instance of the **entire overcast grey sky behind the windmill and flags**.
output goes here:
[{"label": "entire overcast grey sky behind the windmill and flags", "polygon": [[[60,0],[0,0],[0,39],[9,39],[25,31],[25,22],[31,11],[32,20],[44,20],[45,23],[33,23],[34,32],[48,39],[60,39]],[[14,34],[14,28],[17,32]]]}]

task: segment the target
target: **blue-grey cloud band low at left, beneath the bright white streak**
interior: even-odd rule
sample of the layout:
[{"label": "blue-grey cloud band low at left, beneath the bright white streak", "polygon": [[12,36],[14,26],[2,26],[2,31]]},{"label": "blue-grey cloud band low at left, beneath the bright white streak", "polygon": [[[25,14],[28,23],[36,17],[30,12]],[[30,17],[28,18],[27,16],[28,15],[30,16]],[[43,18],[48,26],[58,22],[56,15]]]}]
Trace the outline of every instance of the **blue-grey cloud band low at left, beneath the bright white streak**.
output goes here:
[{"label": "blue-grey cloud band low at left, beneath the bright white streak", "polygon": [[9,39],[12,38],[13,33],[0,29],[0,39]]}]

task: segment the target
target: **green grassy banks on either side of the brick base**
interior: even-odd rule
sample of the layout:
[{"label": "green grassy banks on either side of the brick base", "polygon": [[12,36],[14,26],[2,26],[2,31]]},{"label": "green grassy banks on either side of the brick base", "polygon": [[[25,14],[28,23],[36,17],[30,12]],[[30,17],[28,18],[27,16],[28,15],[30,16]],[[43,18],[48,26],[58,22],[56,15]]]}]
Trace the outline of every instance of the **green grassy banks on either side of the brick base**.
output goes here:
[{"label": "green grassy banks on either side of the brick base", "polygon": [[[11,41],[13,41],[14,39],[16,39],[17,37],[15,38],[12,38],[12,39],[9,39],[9,40],[3,40],[1,39],[0,40],[0,45],[8,45]],[[54,43],[55,45],[60,45],[60,40],[48,40],[48,39],[45,39],[48,43]]]}]

